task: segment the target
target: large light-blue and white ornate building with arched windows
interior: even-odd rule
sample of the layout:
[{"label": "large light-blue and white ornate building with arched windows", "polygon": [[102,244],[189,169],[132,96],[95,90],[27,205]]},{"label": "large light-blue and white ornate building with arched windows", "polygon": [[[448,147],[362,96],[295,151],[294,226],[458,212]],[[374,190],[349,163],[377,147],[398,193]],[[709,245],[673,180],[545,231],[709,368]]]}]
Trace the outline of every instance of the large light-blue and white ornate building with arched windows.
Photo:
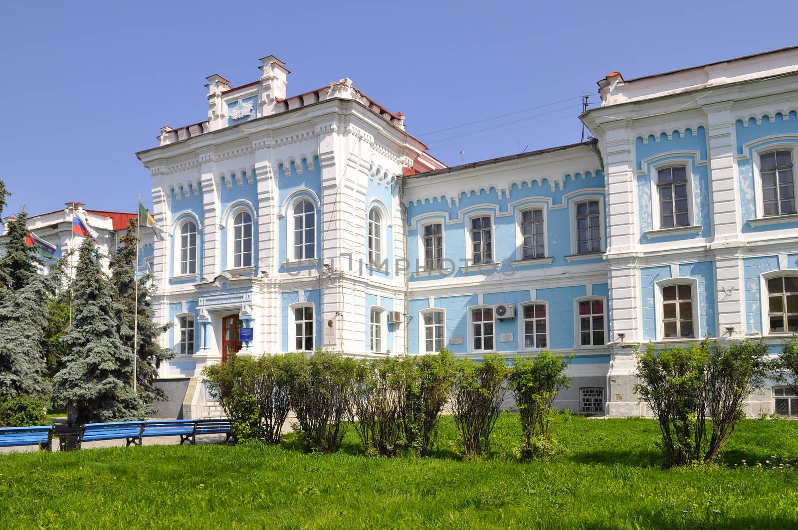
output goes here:
[{"label": "large light-blue and white ornate building with arched windows", "polygon": [[[610,73],[595,139],[452,168],[349,79],[286,97],[262,62],[137,153],[184,414],[210,413],[199,370],[230,351],[445,346],[573,353],[559,406],[636,415],[634,346],[798,330],[798,47]],[[778,393],[748,412],[798,415]]]}]

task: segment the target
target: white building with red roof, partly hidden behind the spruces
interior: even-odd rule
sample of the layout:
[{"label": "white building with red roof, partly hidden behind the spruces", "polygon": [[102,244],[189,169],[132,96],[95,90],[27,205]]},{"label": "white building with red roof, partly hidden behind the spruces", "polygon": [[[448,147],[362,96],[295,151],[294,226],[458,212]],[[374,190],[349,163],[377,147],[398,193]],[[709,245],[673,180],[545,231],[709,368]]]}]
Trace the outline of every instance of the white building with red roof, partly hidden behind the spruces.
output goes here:
[{"label": "white building with red roof, partly hidden behind the spruces", "polygon": [[[66,256],[66,273],[72,274],[72,268],[77,265],[77,249],[80,248],[84,239],[81,235],[73,232],[74,216],[78,216],[97,233],[97,248],[100,251],[105,271],[108,272],[108,256],[117,249],[120,236],[127,231],[128,220],[136,218],[138,213],[91,210],[83,208],[84,206],[83,203],[72,201],[65,203],[65,208],[61,210],[27,218],[28,230],[55,247],[52,257],[45,258],[45,267],[42,272],[53,270],[57,260]],[[6,243],[5,231],[6,226],[4,225],[3,234],[0,235],[0,249]],[[155,237],[152,228],[142,229],[139,236],[141,239],[139,270],[144,272],[152,267],[152,241]],[[73,252],[70,254],[70,251]]]}]

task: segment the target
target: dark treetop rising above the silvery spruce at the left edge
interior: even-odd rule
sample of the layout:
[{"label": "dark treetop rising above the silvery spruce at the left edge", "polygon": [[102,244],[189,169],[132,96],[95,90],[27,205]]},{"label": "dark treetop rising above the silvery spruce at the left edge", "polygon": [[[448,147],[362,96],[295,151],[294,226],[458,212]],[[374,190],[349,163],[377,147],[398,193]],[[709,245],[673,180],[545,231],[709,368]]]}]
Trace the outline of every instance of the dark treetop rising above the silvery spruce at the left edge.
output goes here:
[{"label": "dark treetop rising above the silvery spruce at the left edge", "polygon": [[[0,192],[2,196],[2,192]],[[19,212],[17,219],[6,223],[6,253],[0,258],[0,288],[18,291],[39,275],[44,260],[35,247],[26,243],[28,214]]]}]

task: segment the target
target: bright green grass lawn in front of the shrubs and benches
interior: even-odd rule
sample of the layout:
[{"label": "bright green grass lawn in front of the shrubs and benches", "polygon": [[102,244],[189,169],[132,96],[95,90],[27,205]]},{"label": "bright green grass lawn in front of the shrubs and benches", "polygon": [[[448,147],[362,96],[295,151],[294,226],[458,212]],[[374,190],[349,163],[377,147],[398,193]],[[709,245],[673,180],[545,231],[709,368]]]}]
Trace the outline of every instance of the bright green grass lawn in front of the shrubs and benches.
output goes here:
[{"label": "bright green grass lawn in front of the shrubs and benches", "polygon": [[550,462],[508,456],[515,416],[495,435],[466,461],[448,417],[424,459],[365,457],[351,429],[332,455],[292,436],[0,455],[0,528],[798,528],[798,421],[744,421],[712,469],[662,469],[652,420],[561,416]]}]

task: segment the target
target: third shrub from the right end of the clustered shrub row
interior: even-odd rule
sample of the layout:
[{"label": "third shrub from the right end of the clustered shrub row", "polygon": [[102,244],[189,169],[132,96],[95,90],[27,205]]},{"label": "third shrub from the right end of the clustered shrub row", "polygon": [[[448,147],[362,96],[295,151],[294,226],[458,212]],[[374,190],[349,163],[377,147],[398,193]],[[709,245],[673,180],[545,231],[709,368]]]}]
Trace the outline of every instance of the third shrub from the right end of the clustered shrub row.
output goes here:
[{"label": "third shrub from the right end of the clustered shrub row", "polygon": [[445,349],[438,354],[405,355],[398,361],[397,384],[403,389],[399,417],[409,448],[422,457],[433,449],[455,372],[456,361]]}]

